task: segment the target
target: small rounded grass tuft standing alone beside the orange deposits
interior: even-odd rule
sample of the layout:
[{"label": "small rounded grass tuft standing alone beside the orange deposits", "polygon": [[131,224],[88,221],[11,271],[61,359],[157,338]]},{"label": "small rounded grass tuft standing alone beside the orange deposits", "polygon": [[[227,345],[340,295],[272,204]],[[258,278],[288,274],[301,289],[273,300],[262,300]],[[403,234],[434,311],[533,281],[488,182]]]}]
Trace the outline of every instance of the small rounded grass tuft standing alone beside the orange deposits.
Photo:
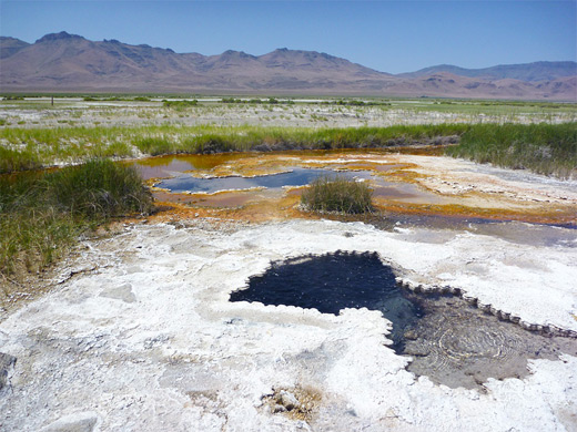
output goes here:
[{"label": "small rounded grass tuft standing alone beside the orange deposits", "polygon": [[373,191],[364,182],[345,177],[318,177],[301,195],[301,204],[313,212],[360,214],[373,210]]}]

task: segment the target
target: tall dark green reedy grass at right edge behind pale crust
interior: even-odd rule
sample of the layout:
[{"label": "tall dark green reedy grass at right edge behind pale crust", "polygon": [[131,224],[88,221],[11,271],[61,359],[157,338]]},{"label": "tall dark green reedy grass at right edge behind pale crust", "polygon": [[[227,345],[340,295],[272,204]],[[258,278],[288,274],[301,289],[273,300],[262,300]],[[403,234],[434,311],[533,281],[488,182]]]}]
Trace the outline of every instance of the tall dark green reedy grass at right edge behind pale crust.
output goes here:
[{"label": "tall dark green reedy grass at right edge behind pale crust", "polygon": [[475,125],[446,154],[570,178],[577,175],[577,123]]}]

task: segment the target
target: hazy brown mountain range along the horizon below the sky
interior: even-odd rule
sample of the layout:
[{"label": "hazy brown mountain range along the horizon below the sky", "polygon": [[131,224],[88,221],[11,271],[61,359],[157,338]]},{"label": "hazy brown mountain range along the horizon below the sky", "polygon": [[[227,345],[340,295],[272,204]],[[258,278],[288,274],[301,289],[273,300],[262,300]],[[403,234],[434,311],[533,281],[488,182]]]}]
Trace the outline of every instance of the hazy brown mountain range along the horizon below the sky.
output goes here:
[{"label": "hazy brown mountain range along the horizon below the sky", "polygon": [[175,53],[67,32],[34,43],[0,38],[1,92],[179,92],[526,99],[577,102],[576,62],[463,69],[437,65],[393,75],[316,51],[264,55]]}]

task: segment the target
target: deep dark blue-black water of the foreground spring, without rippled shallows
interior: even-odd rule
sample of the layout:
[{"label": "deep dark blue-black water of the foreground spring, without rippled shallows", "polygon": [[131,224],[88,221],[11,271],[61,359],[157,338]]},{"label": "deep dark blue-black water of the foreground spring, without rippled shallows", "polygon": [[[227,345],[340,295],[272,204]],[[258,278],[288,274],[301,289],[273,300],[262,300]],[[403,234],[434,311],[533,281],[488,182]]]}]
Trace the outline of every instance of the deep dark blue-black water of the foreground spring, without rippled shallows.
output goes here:
[{"label": "deep dark blue-black water of the foreground spring, without rippled shallows", "polygon": [[379,310],[393,322],[395,348],[404,331],[422,316],[416,302],[403,296],[395,275],[377,254],[336,251],[272,263],[262,276],[249,279],[249,288],[231,294],[231,301],[287,305],[338,315],[345,308]]}]

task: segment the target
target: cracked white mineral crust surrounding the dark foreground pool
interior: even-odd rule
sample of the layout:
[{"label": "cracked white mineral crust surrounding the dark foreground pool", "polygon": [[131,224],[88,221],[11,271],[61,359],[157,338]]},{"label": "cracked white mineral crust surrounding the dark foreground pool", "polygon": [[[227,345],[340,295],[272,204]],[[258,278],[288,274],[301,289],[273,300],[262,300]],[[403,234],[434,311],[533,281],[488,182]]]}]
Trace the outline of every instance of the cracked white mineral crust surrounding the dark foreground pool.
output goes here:
[{"label": "cracked white mineral crust surrounding the dark foreground pool", "polygon": [[[73,266],[93,271],[0,323],[0,352],[17,358],[1,430],[576,430],[576,358],[529,361],[527,378],[486,392],[449,389],[404,369],[378,311],[227,301],[271,260],[368,250],[425,288],[577,330],[574,247],[325,220],[135,225],[90,246]],[[263,397],[296,387],[322,397],[312,419],[266,409]]]}]

